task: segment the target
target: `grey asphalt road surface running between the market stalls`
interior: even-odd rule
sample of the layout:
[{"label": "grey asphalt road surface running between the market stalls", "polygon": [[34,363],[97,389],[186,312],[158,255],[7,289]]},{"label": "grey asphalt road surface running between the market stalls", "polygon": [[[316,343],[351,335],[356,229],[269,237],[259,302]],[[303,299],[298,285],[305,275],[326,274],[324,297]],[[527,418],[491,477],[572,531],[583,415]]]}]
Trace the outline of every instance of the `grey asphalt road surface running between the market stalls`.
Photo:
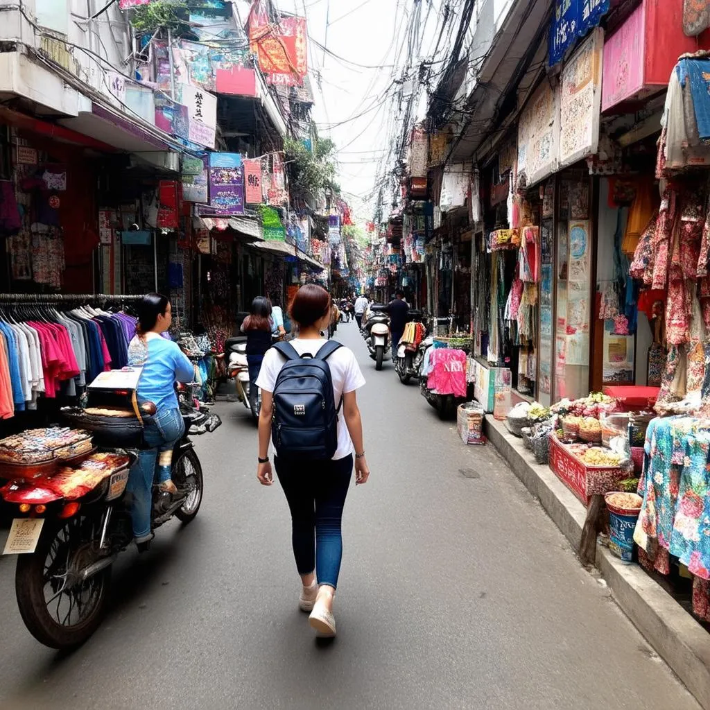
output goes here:
[{"label": "grey asphalt road surface running between the market stalls", "polygon": [[337,337],[368,381],[372,475],[346,502],[334,643],[297,610],[288,507],[256,481],[249,414],[219,403],[224,425],[197,439],[200,514],[119,559],[82,648],[33,640],[0,557],[0,708],[697,709],[493,448],[376,372],[354,323]]}]

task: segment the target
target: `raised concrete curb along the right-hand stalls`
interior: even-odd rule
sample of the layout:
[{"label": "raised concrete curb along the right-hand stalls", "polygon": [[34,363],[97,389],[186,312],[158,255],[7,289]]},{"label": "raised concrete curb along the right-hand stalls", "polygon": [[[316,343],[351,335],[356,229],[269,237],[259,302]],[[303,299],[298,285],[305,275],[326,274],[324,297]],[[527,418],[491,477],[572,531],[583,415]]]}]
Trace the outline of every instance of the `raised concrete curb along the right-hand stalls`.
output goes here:
[{"label": "raised concrete curb along the right-hand stalls", "polygon": [[[515,475],[537,498],[575,551],[586,508],[549,466],[540,466],[523,440],[486,415],[486,436]],[[643,634],[699,704],[710,710],[710,634],[638,564],[624,564],[606,547],[596,547],[596,567],[622,611]]]}]

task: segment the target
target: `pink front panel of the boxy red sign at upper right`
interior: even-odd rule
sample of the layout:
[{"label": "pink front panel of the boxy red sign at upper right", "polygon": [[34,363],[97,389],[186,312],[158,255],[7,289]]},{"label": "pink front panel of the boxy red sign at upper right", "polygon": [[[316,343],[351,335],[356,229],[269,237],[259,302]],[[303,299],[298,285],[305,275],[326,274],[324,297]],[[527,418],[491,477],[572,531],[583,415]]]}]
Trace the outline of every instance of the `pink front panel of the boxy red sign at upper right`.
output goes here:
[{"label": "pink front panel of the boxy red sign at upper right", "polygon": [[640,4],[604,45],[601,110],[643,89],[645,8]]}]

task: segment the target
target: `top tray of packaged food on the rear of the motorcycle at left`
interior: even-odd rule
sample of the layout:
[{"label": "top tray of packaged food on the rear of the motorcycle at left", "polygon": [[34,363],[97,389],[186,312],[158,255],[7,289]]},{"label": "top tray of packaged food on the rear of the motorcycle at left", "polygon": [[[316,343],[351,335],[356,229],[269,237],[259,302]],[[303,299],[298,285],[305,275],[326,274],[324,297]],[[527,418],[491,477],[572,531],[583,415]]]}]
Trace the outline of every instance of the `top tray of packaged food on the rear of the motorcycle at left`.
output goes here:
[{"label": "top tray of packaged food on the rear of the motorcycle at left", "polygon": [[0,465],[31,466],[54,459],[75,459],[92,447],[92,435],[83,429],[31,429],[0,440]]}]

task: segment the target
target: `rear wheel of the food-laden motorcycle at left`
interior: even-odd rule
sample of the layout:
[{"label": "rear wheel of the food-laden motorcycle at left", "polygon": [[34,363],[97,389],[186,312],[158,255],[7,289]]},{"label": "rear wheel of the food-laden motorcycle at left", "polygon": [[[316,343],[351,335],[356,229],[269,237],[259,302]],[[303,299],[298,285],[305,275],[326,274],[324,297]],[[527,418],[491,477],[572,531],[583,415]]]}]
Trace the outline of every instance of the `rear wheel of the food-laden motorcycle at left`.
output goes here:
[{"label": "rear wheel of the food-laden motorcycle at left", "polygon": [[29,632],[50,648],[75,648],[102,622],[111,567],[88,579],[80,572],[96,559],[97,519],[77,515],[47,526],[31,555],[18,555],[15,593]]}]

